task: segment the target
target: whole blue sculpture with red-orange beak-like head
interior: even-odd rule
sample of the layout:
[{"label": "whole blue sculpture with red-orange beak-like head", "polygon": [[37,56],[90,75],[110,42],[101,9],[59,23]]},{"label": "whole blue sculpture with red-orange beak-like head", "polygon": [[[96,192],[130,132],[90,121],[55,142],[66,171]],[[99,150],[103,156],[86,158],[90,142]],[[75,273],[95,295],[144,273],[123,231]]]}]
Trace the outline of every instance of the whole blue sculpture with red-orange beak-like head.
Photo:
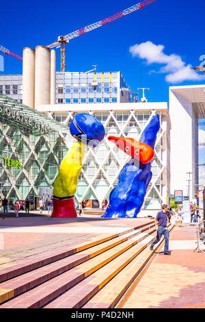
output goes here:
[{"label": "whole blue sculpture with red-orange beak-like head", "polygon": [[[118,186],[111,191],[109,206],[102,217],[137,217],[143,205],[148,184],[152,179],[150,161],[154,157],[153,150],[159,128],[159,115],[156,114],[143,130],[140,143],[131,138],[109,137],[109,140],[113,140],[122,151],[133,158],[122,169]],[[122,142],[124,147],[122,147]],[[126,149],[126,143],[128,143],[129,149]],[[136,153],[137,151],[138,153]]]}]

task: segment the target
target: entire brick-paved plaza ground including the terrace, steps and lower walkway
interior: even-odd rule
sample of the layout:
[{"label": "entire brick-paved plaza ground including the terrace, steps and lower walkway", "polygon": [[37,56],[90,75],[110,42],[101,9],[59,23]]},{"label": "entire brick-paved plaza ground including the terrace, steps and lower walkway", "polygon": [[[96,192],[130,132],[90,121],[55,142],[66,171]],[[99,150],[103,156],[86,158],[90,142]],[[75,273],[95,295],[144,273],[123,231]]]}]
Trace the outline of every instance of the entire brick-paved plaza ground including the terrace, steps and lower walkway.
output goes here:
[{"label": "entire brick-paved plaza ground including the terrace, steps and lower walkway", "polygon": [[[205,253],[193,251],[195,226],[174,227],[169,238],[172,255],[163,255],[162,243],[152,256],[147,246],[156,232],[147,225],[153,225],[153,219],[102,219],[93,214],[0,219],[0,297],[10,299],[1,307],[205,308]],[[133,232],[136,227],[139,234]],[[149,241],[138,245],[141,236]]]}]

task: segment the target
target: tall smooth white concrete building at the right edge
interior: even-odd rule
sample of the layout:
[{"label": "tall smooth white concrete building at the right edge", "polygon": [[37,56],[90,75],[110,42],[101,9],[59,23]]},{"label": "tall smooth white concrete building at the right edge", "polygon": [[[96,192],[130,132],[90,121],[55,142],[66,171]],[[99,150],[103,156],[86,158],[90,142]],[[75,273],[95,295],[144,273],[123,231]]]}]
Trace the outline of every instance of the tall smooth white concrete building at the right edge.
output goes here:
[{"label": "tall smooth white concrete building at the right edge", "polygon": [[195,199],[199,185],[198,119],[205,118],[205,85],[170,87],[169,114],[171,193],[183,190],[183,195]]}]

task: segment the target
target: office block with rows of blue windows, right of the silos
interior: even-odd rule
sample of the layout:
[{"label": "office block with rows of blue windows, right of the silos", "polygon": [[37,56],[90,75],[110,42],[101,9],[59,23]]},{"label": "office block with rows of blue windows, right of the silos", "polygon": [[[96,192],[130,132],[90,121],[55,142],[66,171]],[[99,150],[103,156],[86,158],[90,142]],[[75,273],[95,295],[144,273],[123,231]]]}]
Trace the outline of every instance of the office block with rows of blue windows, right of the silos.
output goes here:
[{"label": "office block with rows of blue windows, right of the silos", "polygon": [[56,103],[131,103],[137,101],[122,73],[56,73]]}]

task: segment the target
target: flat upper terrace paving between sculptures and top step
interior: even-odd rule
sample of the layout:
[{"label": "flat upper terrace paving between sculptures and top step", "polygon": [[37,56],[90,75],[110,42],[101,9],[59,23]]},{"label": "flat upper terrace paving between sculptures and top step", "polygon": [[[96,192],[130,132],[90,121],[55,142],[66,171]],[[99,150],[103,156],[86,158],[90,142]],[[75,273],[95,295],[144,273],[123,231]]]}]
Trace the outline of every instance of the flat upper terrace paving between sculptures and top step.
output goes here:
[{"label": "flat upper terrace paving between sculptures and top step", "polygon": [[[137,224],[150,219],[137,219]],[[83,215],[69,219],[32,216],[0,219],[0,269],[10,267],[14,260],[88,242],[99,235],[124,232],[136,225],[136,219],[105,219]]]}]

